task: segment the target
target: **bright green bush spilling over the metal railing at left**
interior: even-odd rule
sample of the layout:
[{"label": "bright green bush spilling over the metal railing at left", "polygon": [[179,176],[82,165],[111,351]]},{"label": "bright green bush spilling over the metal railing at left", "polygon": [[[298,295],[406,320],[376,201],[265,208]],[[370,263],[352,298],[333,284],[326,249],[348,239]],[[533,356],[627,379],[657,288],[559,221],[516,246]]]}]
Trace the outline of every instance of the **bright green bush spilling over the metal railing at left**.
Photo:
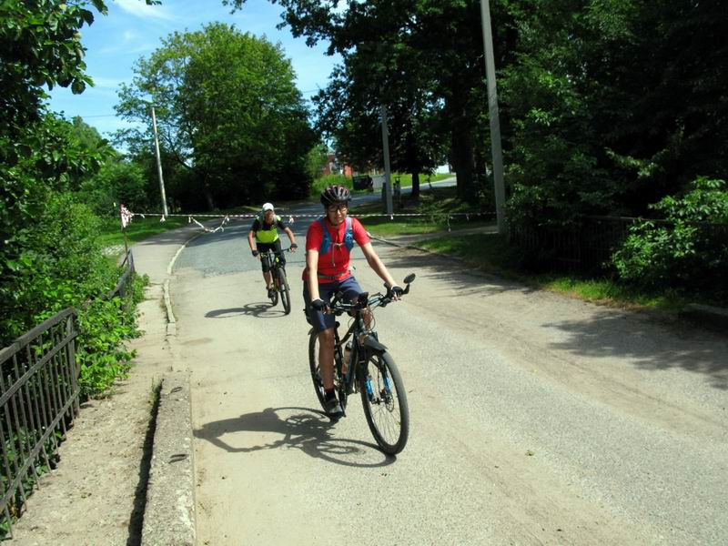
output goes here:
[{"label": "bright green bush spilling over the metal railing at left", "polygon": [[133,302],[140,298],[141,281],[135,281],[131,305],[103,299],[120,271],[101,253],[98,226],[85,205],[49,194],[13,274],[0,281],[2,347],[64,308],[79,309],[82,396],[99,394],[124,377],[133,355],[123,341],[137,333]]}]

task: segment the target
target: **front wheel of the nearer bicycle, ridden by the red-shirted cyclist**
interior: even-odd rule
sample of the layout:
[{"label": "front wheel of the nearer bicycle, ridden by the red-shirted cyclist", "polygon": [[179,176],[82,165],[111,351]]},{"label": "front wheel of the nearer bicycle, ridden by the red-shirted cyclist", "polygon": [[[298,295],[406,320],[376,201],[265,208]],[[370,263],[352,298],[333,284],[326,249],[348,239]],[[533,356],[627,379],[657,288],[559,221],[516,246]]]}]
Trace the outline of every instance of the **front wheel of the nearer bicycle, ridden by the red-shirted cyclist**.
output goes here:
[{"label": "front wheel of the nearer bicycle, ridden by the red-shirted cyclist", "polygon": [[372,353],[360,367],[361,404],[369,430],[382,451],[396,455],[410,436],[410,409],[399,369],[386,351]]}]

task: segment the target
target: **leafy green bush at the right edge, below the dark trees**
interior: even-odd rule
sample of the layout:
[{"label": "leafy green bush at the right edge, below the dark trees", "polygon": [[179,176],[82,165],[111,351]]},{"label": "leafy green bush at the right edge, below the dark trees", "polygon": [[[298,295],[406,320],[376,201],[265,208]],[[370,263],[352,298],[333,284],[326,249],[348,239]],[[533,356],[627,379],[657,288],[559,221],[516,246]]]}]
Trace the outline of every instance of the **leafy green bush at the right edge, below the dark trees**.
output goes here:
[{"label": "leafy green bush at the right edge, below the dark trees", "polygon": [[[651,206],[667,221],[642,221],[612,255],[620,277],[643,287],[725,289],[728,187],[700,177],[682,197]],[[721,225],[723,224],[723,225]]]}]

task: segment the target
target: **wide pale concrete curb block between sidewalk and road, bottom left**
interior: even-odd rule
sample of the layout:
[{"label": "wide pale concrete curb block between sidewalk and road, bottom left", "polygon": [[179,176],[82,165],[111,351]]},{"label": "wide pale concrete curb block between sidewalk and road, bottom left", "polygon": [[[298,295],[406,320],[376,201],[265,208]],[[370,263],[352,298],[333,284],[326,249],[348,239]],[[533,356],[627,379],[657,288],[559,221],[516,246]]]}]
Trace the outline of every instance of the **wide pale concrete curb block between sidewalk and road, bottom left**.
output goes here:
[{"label": "wide pale concrete curb block between sidewalk and road, bottom left", "polygon": [[187,372],[163,379],[147,482],[142,546],[194,546],[195,469]]}]

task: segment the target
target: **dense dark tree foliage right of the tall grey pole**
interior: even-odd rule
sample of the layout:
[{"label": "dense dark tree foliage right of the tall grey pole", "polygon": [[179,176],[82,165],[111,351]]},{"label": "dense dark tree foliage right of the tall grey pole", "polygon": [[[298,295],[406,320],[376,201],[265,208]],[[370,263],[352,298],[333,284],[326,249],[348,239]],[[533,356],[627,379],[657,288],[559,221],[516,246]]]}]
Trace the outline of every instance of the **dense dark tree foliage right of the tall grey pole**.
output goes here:
[{"label": "dense dark tree foliage right of the tall grey pole", "polygon": [[506,66],[512,217],[645,214],[728,167],[720,2],[540,0]]}]

